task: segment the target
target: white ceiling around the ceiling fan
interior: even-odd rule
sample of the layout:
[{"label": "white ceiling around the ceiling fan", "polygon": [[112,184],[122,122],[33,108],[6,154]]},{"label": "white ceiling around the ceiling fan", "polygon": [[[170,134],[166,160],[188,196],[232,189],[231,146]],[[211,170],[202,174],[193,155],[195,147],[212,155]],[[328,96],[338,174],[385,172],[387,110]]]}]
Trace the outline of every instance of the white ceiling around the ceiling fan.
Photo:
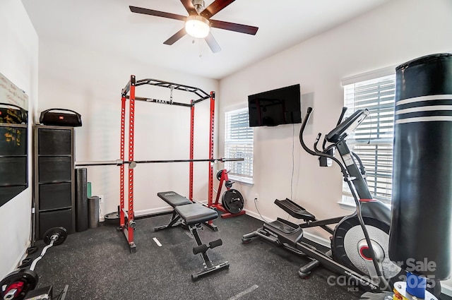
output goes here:
[{"label": "white ceiling around the ceiling fan", "polygon": [[[222,50],[186,35],[163,44],[181,20],[131,13],[129,5],[188,16],[179,0],[22,0],[41,40],[133,57],[208,78],[224,78],[256,61],[334,28],[389,0],[236,0],[212,18],[253,25],[246,35],[212,28]],[[206,0],[206,7],[213,0]],[[331,50],[331,49],[326,49]]]}]

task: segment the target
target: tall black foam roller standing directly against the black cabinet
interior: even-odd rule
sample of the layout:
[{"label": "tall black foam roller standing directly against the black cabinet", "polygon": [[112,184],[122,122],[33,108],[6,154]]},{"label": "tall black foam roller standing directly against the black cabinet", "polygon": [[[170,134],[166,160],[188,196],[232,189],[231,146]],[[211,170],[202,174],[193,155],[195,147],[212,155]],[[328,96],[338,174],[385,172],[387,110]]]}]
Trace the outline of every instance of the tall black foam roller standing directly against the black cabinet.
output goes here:
[{"label": "tall black foam roller standing directly against the black cabinet", "polygon": [[76,232],[88,230],[88,175],[86,168],[76,169]]}]

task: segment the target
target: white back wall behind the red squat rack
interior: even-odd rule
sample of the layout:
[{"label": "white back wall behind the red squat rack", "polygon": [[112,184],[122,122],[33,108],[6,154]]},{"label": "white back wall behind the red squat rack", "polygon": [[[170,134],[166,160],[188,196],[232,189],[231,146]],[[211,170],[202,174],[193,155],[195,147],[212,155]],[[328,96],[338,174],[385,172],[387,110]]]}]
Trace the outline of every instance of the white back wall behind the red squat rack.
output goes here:
[{"label": "white back wall behind the red squat rack", "polygon": [[[152,49],[149,55],[153,55]],[[40,40],[38,110],[59,107],[82,115],[83,126],[76,128],[77,161],[119,159],[121,90],[131,74],[137,80],[166,80],[198,87],[207,93],[218,90],[218,80],[144,66],[124,57],[93,52],[83,45]],[[169,93],[167,88],[146,85],[136,88],[136,96],[141,97],[169,100]],[[173,93],[174,102],[189,103],[191,99],[198,97],[189,92],[175,90]],[[208,158],[209,105],[209,100],[196,104],[195,158]],[[136,102],[134,159],[189,159],[189,119],[187,107]],[[195,164],[194,179],[194,198],[207,200],[207,162]],[[119,167],[88,167],[88,181],[93,184],[93,195],[105,197],[105,204],[100,205],[102,214],[116,211]],[[156,194],[171,190],[188,196],[188,163],[139,164],[135,169],[136,215],[166,210],[168,206]]]}]

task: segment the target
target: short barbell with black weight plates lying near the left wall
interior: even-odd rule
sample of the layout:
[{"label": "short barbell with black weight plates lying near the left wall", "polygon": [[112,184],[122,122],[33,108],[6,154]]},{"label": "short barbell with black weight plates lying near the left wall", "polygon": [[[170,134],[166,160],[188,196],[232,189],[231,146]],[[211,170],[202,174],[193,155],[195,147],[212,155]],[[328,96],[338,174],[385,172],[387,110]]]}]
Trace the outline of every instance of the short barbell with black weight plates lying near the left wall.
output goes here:
[{"label": "short barbell with black weight plates lying near the left wall", "polygon": [[35,258],[31,263],[30,269],[20,268],[14,272],[9,273],[0,282],[0,296],[2,300],[22,300],[25,295],[37,286],[38,275],[35,272],[36,264],[47,249],[52,246],[63,244],[67,237],[67,231],[64,227],[54,227],[44,233],[42,240],[47,246],[42,249],[40,256]]}]

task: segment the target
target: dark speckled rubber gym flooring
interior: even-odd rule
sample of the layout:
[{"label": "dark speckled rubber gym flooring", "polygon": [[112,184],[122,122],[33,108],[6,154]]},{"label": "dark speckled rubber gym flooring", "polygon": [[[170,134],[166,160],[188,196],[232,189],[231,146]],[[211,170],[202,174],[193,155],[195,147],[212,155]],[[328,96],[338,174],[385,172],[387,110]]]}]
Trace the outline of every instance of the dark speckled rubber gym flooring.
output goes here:
[{"label": "dark speckled rubber gym flooring", "polygon": [[[191,273],[202,269],[202,259],[192,253],[196,246],[188,230],[181,227],[154,232],[171,215],[136,220],[136,253],[122,232],[102,225],[69,234],[59,246],[50,248],[37,263],[37,287],[54,286],[54,296],[69,285],[66,300],[80,299],[359,299],[364,291],[328,284],[335,275],[317,268],[302,280],[297,272],[309,262],[283,248],[254,239],[242,244],[242,235],[261,227],[262,221],[248,215],[218,218],[218,232],[199,231],[203,243],[222,239],[223,245],[208,250],[214,265],[229,261],[230,268],[191,281]],[[162,246],[157,246],[153,238]],[[36,246],[44,246],[37,241]],[[40,253],[39,251],[39,253]],[[35,254],[37,256],[39,254]],[[446,298],[441,298],[446,299]],[[449,298],[448,298],[449,299]]]}]

